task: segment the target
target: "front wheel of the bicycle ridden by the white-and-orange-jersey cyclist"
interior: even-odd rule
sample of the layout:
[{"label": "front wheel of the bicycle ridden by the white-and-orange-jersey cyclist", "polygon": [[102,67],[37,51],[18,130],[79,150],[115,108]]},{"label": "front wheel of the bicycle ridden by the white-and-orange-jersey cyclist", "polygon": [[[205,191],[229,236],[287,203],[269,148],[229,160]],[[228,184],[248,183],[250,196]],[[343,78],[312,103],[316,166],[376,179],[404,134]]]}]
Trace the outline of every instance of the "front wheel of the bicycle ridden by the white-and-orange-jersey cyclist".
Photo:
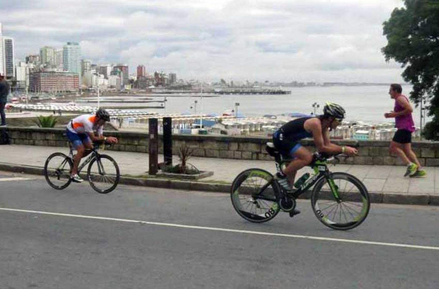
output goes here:
[{"label": "front wheel of the bicycle ridden by the white-and-orange-jersey cyclist", "polygon": [[87,177],[90,186],[97,193],[110,193],[119,183],[119,166],[112,157],[101,154],[91,160]]}]

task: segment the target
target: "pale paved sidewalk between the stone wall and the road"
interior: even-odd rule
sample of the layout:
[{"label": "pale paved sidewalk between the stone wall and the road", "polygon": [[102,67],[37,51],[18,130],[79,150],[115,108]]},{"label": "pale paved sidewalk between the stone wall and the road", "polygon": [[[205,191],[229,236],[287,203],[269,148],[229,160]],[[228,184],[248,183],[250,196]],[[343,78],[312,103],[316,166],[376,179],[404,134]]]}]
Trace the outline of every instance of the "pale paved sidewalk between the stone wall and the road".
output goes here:
[{"label": "pale paved sidewalk between the stone wall and the road", "polygon": [[[68,148],[47,146],[0,146],[0,163],[18,164],[43,167],[47,156],[61,151],[68,153]],[[148,171],[148,154],[105,150],[101,153],[111,155],[119,164],[122,175],[145,175]],[[159,162],[163,156],[159,155]],[[178,157],[173,156],[174,164]],[[213,171],[214,174],[201,181],[221,181],[231,183],[237,174],[247,168],[262,168],[270,172],[275,171],[273,161],[246,161],[219,159],[207,157],[192,157],[189,162],[203,171]],[[360,178],[371,193],[396,195],[429,195],[439,196],[439,167],[425,167],[426,178],[404,178],[403,166],[373,166],[338,164],[330,166],[331,171],[345,171]],[[303,168],[298,177],[310,168]],[[437,180],[437,181],[436,181]]]}]

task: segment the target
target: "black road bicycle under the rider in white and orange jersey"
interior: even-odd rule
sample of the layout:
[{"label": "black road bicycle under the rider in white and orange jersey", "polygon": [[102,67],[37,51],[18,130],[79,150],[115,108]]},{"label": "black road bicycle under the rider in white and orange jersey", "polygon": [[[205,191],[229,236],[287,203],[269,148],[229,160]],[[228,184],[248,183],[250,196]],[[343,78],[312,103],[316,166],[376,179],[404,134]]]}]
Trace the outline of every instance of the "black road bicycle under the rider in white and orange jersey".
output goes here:
[{"label": "black road bicycle under the rider in white and orange jersey", "polygon": [[[93,143],[93,149],[89,156],[78,167],[78,174],[87,164],[87,179],[90,186],[101,194],[110,193],[119,183],[119,166],[116,161],[105,154],[98,153],[100,143]],[[44,164],[44,176],[47,183],[54,189],[65,189],[72,179],[70,173],[73,167],[73,147],[69,142],[70,152],[52,153],[47,157]]]}]

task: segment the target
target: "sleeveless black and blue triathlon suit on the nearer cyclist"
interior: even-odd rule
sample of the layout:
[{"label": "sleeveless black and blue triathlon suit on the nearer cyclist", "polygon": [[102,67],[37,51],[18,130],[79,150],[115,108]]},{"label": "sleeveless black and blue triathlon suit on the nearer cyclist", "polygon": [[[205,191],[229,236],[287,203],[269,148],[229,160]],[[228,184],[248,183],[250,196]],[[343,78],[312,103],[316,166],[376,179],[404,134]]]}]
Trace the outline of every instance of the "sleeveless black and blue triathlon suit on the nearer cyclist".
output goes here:
[{"label": "sleeveless black and blue triathlon suit on the nearer cyclist", "polygon": [[303,127],[305,121],[312,117],[297,118],[288,121],[282,125],[276,132],[273,133],[273,144],[284,157],[292,157],[302,145],[299,142],[301,139],[312,137],[310,132],[307,132]]}]

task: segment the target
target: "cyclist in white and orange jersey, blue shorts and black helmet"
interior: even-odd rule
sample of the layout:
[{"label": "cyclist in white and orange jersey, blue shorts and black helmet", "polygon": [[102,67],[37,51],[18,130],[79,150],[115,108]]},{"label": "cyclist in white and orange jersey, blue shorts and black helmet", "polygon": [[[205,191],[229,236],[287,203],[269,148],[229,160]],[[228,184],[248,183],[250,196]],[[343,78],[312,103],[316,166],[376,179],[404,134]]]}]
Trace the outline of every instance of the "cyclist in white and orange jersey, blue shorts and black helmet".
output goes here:
[{"label": "cyclist in white and orange jersey, blue shorts and black helmet", "polygon": [[83,182],[83,179],[78,175],[78,165],[81,158],[91,152],[93,148],[92,142],[105,141],[117,143],[117,138],[104,136],[103,128],[105,121],[110,121],[110,114],[108,114],[108,111],[100,108],[96,111],[96,114],[79,115],[68,122],[67,137],[77,151],[75,157],[73,157],[73,168],[70,175],[73,182]]}]

